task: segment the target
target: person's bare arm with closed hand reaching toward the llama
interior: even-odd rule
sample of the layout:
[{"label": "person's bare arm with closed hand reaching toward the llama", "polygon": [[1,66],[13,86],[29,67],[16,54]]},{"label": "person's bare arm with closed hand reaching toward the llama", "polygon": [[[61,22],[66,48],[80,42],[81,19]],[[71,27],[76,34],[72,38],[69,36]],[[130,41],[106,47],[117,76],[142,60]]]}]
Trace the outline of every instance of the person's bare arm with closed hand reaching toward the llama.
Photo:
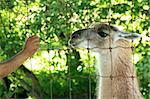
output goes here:
[{"label": "person's bare arm with closed hand reaching toward the llama", "polygon": [[37,36],[31,36],[27,39],[25,46],[16,56],[10,60],[0,63],[0,78],[7,76],[15,71],[25,60],[31,57],[39,48],[40,40]]}]

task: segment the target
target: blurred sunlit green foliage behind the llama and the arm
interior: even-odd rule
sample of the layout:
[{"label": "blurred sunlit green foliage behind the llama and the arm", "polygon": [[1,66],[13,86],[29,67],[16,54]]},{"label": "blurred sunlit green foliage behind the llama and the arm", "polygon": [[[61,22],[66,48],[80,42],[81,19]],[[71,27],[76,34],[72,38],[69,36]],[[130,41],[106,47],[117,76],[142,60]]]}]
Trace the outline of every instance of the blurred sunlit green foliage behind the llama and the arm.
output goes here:
[{"label": "blurred sunlit green foliage behind the llama and the arm", "polygon": [[[30,35],[41,38],[36,55],[0,80],[0,97],[95,99],[95,57],[68,49],[73,31],[110,21],[142,35],[134,41],[140,90],[150,99],[149,0],[0,0],[0,61],[22,49]],[[90,56],[90,57],[89,57]]]}]

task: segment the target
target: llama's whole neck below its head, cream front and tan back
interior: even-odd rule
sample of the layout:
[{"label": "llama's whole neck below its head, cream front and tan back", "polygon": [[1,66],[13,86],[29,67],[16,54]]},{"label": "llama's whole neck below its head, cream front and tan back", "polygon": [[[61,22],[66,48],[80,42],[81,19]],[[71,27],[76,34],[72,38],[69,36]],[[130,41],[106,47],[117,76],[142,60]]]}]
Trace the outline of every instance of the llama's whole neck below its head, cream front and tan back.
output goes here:
[{"label": "llama's whole neck below its head, cream front and tan back", "polygon": [[[131,49],[117,48],[97,55],[97,99],[141,99],[131,57]],[[110,78],[113,76],[114,78]],[[126,78],[134,76],[132,78]],[[133,91],[134,89],[134,91]],[[118,94],[119,93],[119,94]],[[133,97],[133,94],[138,94]],[[119,98],[118,98],[119,97]],[[115,99],[115,98],[114,98]]]}]

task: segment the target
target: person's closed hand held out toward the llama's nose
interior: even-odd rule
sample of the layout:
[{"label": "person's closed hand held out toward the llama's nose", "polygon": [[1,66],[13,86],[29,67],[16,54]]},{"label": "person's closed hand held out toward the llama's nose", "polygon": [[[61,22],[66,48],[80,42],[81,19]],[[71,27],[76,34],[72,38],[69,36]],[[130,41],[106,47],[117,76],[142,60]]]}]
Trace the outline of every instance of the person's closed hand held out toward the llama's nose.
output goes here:
[{"label": "person's closed hand held out toward the llama's nose", "polygon": [[39,48],[40,39],[38,36],[30,36],[25,43],[23,53],[28,57],[31,57]]}]

